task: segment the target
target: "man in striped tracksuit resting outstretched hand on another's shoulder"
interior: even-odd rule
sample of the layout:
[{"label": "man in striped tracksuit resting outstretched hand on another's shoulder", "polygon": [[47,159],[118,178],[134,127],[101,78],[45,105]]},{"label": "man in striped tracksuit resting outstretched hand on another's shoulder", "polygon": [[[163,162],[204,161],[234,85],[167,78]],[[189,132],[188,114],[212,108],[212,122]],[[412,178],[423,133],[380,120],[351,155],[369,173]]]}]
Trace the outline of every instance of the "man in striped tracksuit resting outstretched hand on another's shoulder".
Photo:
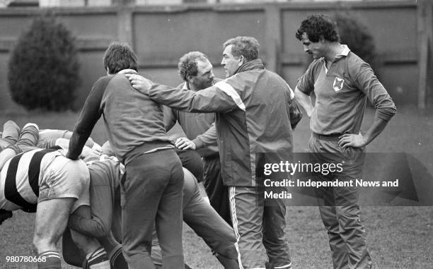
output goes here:
[{"label": "man in striped tracksuit resting outstretched hand on another's shoulder", "polygon": [[291,124],[300,116],[291,119],[294,93],[264,68],[258,47],[253,37],[227,40],[221,62],[226,80],[197,92],[149,83],[142,76],[127,77],[156,102],[189,112],[216,112],[221,172],[229,186],[240,268],[291,268],[284,235],[286,210],[281,200],[271,207],[258,203],[255,153],[275,153],[287,160],[293,151]]}]

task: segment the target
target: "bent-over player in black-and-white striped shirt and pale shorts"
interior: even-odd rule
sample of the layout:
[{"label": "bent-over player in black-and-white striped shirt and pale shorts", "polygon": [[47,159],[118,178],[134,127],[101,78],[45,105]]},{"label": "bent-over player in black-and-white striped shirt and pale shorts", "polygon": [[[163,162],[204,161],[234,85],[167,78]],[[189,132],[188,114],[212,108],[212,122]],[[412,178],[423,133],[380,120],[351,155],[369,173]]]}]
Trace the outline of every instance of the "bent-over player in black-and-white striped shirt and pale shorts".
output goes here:
[{"label": "bent-over player in black-and-white striped shirt and pale shorts", "polygon": [[[69,213],[90,203],[89,174],[82,160],[69,160],[61,150],[31,149],[37,143],[38,131],[35,124],[27,124],[17,142],[10,143],[0,153],[4,164],[0,172],[0,224],[12,216],[13,210],[36,212],[33,244],[38,255],[37,266],[61,268],[56,243],[67,226]],[[27,152],[20,153],[23,151]],[[76,237],[87,240],[88,249],[97,249],[96,240],[85,239],[81,234]],[[101,268],[110,268],[108,261],[105,264]]]}]

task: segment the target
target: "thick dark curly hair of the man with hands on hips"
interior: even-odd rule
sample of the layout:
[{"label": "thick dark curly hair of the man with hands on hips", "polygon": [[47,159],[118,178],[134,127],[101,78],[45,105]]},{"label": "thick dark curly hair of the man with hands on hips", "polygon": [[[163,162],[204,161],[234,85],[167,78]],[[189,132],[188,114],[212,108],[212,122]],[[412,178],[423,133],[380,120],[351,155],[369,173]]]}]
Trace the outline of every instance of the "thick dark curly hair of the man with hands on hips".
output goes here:
[{"label": "thick dark curly hair of the man with hands on hips", "polygon": [[321,37],[330,42],[340,42],[337,24],[325,15],[311,15],[302,20],[301,27],[296,31],[296,38],[302,40],[302,34],[306,32],[308,40],[318,42]]}]

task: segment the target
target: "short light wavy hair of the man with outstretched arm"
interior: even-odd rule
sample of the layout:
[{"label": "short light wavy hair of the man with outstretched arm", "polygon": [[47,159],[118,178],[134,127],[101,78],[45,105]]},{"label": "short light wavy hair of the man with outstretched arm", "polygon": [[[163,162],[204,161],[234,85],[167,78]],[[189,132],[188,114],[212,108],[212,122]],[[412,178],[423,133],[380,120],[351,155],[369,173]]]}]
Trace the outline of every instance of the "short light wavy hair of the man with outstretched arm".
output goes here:
[{"label": "short light wavy hair of the man with outstretched arm", "polygon": [[234,37],[224,42],[224,49],[229,46],[231,47],[231,54],[233,56],[244,56],[246,61],[252,61],[258,59],[260,44],[254,37]]}]

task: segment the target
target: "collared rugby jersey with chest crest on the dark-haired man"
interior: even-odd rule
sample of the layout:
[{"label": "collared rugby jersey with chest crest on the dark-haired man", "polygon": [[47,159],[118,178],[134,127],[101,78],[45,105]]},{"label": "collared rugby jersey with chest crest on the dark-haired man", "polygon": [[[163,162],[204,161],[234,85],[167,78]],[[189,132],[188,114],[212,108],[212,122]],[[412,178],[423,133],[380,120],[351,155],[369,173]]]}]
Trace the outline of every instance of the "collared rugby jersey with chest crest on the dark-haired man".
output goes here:
[{"label": "collared rugby jersey with chest crest on the dark-haired man", "polygon": [[310,121],[314,133],[359,133],[366,98],[381,119],[389,121],[396,114],[396,105],[369,64],[343,46],[343,52],[337,55],[329,70],[325,59],[316,59],[298,80],[297,88],[301,92],[316,94]]}]

